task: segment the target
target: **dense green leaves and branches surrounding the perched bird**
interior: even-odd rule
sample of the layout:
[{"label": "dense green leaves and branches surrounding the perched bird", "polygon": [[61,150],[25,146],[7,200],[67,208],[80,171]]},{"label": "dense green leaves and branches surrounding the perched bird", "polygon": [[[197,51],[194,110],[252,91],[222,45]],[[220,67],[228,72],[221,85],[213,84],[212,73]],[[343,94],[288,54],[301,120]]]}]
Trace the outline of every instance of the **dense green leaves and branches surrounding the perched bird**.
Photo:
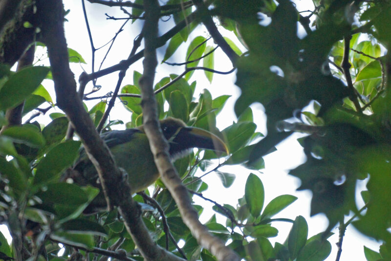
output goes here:
[{"label": "dense green leaves and branches surrounding the perched bird", "polygon": [[[331,251],[327,238],[337,224],[342,237],[346,227],[352,225],[383,242],[379,252],[364,248],[368,261],[391,259],[389,0],[313,0],[313,10],[304,12],[289,0],[169,0],[159,2],[160,6],[154,0],[88,1],[124,11],[126,22],[118,21],[123,25],[116,35],[127,23],[138,30],[140,24],[144,27],[134,39],[128,58],[120,57],[123,61],[98,71],[94,71],[92,61],[92,71],[80,75],[79,94],[67,70],[69,63],[86,61],[77,50],[66,48],[62,26],[69,10],[63,10],[62,4],[53,4],[54,0],[5,0],[0,6],[0,213],[13,239],[10,246],[0,234],[0,259],[57,261],[85,260],[88,256],[87,260],[111,257],[213,261],[224,260],[220,255],[229,256],[233,250],[236,255],[232,254],[230,260],[323,261]],[[82,3],[85,8],[85,1]],[[12,15],[4,14],[4,10]],[[158,14],[155,20],[173,17],[172,27],[160,36],[148,29],[153,28],[152,23],[156,23],[155,27],[165,23],[153,22],[154,13]],[[85,19],[87,22],[87,15]],[[198,30],[202,24],[207,35]],[[224,37],[221,32],[225,32]],[[137,52],[142,40],[145,49]],[[239,42],[243,48],[237,46]],[[187,47],[186,54],[174,56],[183,45]],[[92,41],[91,46],[94,53],[97,48]],[[153,82],[151,50],[155,52],[162,46],[164,58],[158,62],[184,65],[185,69]],[[217,47],[232,62],[232,71],[215,68]],[[50,67],[42,66],[40,59],[33,63],[35,49],[47,50]],[[132,68],[132,84],[123,84],[127,70],[143,57],[144,72]],[[184,62],[169,63],[173,57],[182,57]],[[17,61],[18,69],[11,70]],[[216,127],[216,116],[232,94],[212,97],[208,89],[195,93],[195,70],[205,71],[212,84],[216,73],[235,70],[236,85],[241,90],[235,103],[238,120],[221,131]],[[120,71],[116,88],[105,90],[109,93],[99,96],[101,100],[96,102],[94,94],[100,91],[96,79],[116,71]],[[55,99],[45,89],[44,79],[54,82]],[[149,79],[156,108],[146,102]],[[85,92],[88,82],[93,83],[89,93]],[[102,156],[100,148],[94,147],[93,139],[99,139],[95,129],[106,132],[124,124],[108,118],[117,98],[129,111],[127,128],[149,122],[149,110],[155,109],[157,119],[182,119],[226,142],[230,155],[212,170],[208,167],[218,158],[213,151],[194,151],[174,166],[187,188],[182,195],[189,192],[213,202],[213,210],[226,217],[221,223],[213,215],[205,226],[210,238],[219,238],[227,247],[216,250],[209,247],[209,239],[199,237],[201,230],[186,219],[183,213],[187,210],[178,200],[181,194],[171,190],[165,174],[161,173],[153,193],[146,190],[133,200],[129,196],[129,201],[138,204],[127,205],[113,195],[115,190],[118,194],[129,190],[106,175],[112,170],[113,178],[119,178],[115,173],[120,171],[108,152]],[[88,106],[92,100],[93,106],[87,109],[81,100],[88,100]],[[249,107],[254,102],[265,108],[265,136],[256,131]],[[53,108],[62,112],[49,114]],[[46,113],[51,120],[44,125],[40,115]],[[83,118],[84,114],[87,117]],[[295,220],[276,218],[297,198],[284,194],[265,202],[262,181],[255,174],[264,168],[262,157],[294,133],[305,134],[299,142],[307,160],[289,173],[301,180],[299,190],[311,190],[311,215],[324,213],[329,220],[325,232],[309,238],[303,216]],[[78,140],[90,157],[104,159],[101,166],[96,166],[100,183],[109,201],[118,208],[83,214],[99,189],[96,184],[66,182],[79,157],[82,142]],[[243,165],[254,172],[248,176],[243,197],[236,205],[220,205],[205,198],[202,192],[213,184],[205,183],[198,171],[216,172],[223,186],[229,188],[235,182],[235,174],[218,168],[230,165]],[[365,179],[368,190],[361,191],[365,205],[358,208],[356,183]],[[105,184],[109,184],[108,188]],[[127,214],[125,210],[132,206],[138,207]],[[204,210],[203,206],[193,207],[194,214]],[[353,217],[345,220],[349,213]],[[147,233],[139,233],[140,226],[133,226],[130,220],[143,223]],[[269,238],[278,234],[273,227],[276,221],[291,222],[292,228],[285,242],[273,246]],[[140,242],[150,239],[156,244],[146,249]],[[184,245],[179,247],[178,242]],[[342,239],[338,242],[339,256],[341,247]]]}]

